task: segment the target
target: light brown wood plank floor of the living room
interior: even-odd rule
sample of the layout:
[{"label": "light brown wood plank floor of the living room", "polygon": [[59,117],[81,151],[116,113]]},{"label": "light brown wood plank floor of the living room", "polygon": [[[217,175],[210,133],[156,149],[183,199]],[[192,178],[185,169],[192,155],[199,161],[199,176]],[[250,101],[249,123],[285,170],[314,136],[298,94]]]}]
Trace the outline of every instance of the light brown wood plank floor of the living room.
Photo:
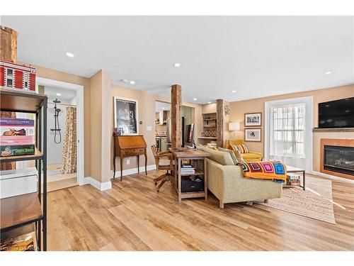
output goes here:
[{"label": "light brown wood plank floor of the living room", "polygon": [[336,225],[260,204],[178,197],[161,172],[132,174],[113,189],[48,193],[48,250],[354,250],[354,184],[333,181]]}]

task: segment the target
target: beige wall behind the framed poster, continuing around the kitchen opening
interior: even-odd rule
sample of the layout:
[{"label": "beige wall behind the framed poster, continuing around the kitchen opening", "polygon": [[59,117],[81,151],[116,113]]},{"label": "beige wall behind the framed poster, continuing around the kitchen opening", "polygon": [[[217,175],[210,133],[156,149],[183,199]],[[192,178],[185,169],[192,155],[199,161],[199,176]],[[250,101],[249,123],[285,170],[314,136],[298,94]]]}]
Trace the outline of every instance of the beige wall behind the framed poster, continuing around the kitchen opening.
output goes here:
[{"label": "beige wall behind the framed poster, continuing around the kitchen opening", "polygon": [[[113,97],[120,96],[127,99],[137,99],[139,101],[139,121],[142,121],[142,125],[139,125],[139,134],[144,135],[144,139],[147,143],[147,165],[154,165],[155,160],[152,155],[151,145],[155,144],[155,101],[171,102],[171,99],[167,99],[157,94],[151,94],[148,92],[142,92],[135,89],[128,89],[112,84],[111,97],[110,97],[110,113],[113,113]],[[190,106],[195,109],[195,138],[202,133],[202,106],[199,104],[191,104],[188,102],[182,103],[184,106]],[[113,116],[110,123],[110,133],[113,133],[114,120]],[[152,127],[152,131],[147,131],[147,126]],[[110,169],[113,170],[113,138],[110,138]],[[123,160],[123,169],[131,169],[137,167],[137,160],[135,157],[130,157],[130,165],[127,165],[127,159]],[[116,159],[116,171],[120,170],[119,158]],[[144,166],[144,160],[140,160],[140,166]]]}]

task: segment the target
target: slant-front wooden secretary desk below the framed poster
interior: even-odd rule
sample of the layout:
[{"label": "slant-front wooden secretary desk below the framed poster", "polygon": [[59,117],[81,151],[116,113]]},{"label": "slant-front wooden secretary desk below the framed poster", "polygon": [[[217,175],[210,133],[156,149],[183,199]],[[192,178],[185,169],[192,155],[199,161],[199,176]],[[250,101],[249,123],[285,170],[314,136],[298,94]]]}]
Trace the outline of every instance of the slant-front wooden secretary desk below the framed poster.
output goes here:
[{"label": "slant-front wooden secretary desk below the framed poster", "polygon": [[113,178],[115,178],[115,157],[120,157],[120,181],[123,175],[123,158],[137,156],[139,173],[139,155],[145,155],[145,174],[147,174],[147,143],[143,135],[114,135]]}]

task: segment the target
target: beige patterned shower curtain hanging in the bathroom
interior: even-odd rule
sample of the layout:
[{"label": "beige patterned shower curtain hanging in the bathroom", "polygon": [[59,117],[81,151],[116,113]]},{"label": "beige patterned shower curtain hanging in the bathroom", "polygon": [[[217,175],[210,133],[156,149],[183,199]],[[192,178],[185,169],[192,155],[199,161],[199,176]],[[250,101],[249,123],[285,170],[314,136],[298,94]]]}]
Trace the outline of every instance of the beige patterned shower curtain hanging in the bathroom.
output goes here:
[{"label": "beige patterned shower curtain hanging in the bathroom", "polygon": [[62,174],[72,174],[76,172],[76,107],[67,107],[67,119],[65,121]]}]

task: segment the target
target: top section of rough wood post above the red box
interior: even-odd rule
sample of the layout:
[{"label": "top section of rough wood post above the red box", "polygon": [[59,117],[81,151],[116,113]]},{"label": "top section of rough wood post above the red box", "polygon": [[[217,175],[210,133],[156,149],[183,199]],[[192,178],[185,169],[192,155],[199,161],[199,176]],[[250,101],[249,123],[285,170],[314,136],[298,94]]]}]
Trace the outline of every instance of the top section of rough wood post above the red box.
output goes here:
[{"label": "top section of rough wood post above the red box", "polygon": [[17,31],[0,26],[0,59],[17,62]]}]

